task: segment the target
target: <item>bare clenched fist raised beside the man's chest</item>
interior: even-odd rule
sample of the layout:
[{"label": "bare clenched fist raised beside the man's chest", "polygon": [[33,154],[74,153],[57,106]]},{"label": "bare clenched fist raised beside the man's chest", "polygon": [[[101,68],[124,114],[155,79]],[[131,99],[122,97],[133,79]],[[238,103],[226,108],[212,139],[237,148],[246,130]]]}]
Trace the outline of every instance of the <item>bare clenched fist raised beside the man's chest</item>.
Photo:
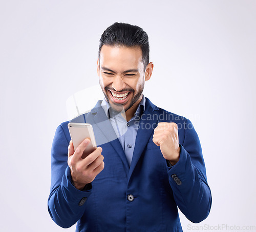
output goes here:
[{"label": "bare clenched fist raised beside the man's chest", "polygon": [[180,158],[178,126],[175,122],[159,122],[154,130],[153,142],[160,146],[165,160],[175,165]]}]

